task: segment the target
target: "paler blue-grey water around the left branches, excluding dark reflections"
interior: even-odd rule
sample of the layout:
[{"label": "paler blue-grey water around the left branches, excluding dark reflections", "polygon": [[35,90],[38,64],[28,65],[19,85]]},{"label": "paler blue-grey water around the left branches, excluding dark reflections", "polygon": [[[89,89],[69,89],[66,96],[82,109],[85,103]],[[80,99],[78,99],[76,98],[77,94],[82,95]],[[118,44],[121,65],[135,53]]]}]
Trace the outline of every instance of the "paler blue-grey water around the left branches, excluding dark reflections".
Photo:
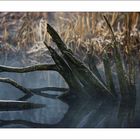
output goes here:
[{"label": "paler blue-grey water around the left branches, excluding dark reflections", "polygon": [[[14,60],[6,63],[10,66],[21,66],[21,63]],[[16,80],[18,83],[27,88],[41,87],[68,87],[63,78],[57,72],[43,71],[30,73],[0,73],[1,77],[9,77]],[[50,91],[50,94],[54,94]],[[47,91],[49,93],[49,91]],[[61,94],[61,93],[57,93]],[[24,94],[11,86],[10,84],[0,83],[0,99],[1,100],[18,100]],[[68,105],[60,100],[49,99],[41,96],[33,96],[27,101],[33,103],[42,103],[46,107],[39,109],[30,109],[23,111],[0,111],[0,120],[27,120],[35,123],[54,124],[59,122],[68,110]],[[24,125],[8,125],[4,127],[25,127]]]}]

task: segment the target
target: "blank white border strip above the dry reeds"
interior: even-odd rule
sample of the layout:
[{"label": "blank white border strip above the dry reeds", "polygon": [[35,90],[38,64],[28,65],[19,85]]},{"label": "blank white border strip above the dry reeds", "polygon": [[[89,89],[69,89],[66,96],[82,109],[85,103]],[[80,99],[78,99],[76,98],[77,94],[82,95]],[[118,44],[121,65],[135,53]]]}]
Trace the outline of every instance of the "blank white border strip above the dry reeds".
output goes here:
[{"label": "blank white border strip above the dry reeds", "polygon": [[140,11],[140,1],[0,1],[0,11],[46,11],[46,12],[126,12]]}]

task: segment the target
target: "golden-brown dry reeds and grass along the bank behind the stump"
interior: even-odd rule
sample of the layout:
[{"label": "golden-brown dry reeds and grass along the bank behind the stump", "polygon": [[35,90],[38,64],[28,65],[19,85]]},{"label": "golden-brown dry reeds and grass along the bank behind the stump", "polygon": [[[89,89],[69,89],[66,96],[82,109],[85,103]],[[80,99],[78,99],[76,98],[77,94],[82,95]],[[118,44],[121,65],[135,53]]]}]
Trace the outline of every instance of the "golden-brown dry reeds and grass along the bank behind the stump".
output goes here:
[{"label": "golden-brown dry reeds and grass along the bank behind the stump", "polygon": [[8,43],[18,50],[32,46],[37,46],[39,50],[44,40],[51,43],[46,30],[47,22],[51,22],[75,54],[81,53],[83,57],[93,48],[100,57],[112,39],[103,15],[110,21],[126,60],[129,61],[128,52],[140,60],[140,14],[136,12],[0,13],[0,41],[3,46]]}]

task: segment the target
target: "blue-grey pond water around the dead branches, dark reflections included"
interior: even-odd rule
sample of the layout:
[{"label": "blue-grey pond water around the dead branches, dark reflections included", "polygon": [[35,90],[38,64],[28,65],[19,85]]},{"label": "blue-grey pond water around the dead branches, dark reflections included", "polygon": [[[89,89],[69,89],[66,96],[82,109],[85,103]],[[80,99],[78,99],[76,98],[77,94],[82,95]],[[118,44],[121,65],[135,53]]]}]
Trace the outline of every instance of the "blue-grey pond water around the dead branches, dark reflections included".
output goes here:
[{"label": "blue-grey pond water around the dead branches, dark reflections included", "polygon": [[[14,63],[13,63],[14,62]],[[16,60],[6,65],[21,66]],[[24,74],[0,73],[1,77],[10,77],[27,88],[65,87],[68,85],[57,72],[30,72]],[[107,99],[74,101],[69,106],[59,99],[50,99],[34,95],[27,99],[32,103],[41,103],[45,107],[28,110],[8,109],[0,111],[0,127],[140,127],[140,75],[137,77],[137,100],[120,105]],[[61,94],[61,92],[49,92]],[[0,100],[18,100],[24,94],[6,83],[0,83]]]}]

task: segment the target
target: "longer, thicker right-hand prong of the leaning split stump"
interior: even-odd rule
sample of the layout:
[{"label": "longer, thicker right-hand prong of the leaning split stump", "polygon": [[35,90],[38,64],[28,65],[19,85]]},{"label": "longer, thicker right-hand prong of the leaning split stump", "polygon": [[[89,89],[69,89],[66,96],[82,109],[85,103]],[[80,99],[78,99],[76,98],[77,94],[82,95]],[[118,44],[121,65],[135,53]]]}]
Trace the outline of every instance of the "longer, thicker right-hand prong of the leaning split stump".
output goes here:
[{"label": "longer, thicker right-hand prong of the leaning split stump", "polygon": [[[88,94],[90,96],[94,96],[94,93],[98,92],[111,95],[111,92],[107,86],[102,81],[100,81],[98,77],[84,65],[84,63],[78,60],[70,49],[67,49],[67,46],[61,40],[58,33],[49,24],[47,25],[47,31],[61,51],[63,59],[65,62],[67,62],[67,67],[71,69],[74,77],[77,77]],[[45,45],[47,46],[46,43]],[[54,61],[55,60],[56,58],[54,58]]]}]

